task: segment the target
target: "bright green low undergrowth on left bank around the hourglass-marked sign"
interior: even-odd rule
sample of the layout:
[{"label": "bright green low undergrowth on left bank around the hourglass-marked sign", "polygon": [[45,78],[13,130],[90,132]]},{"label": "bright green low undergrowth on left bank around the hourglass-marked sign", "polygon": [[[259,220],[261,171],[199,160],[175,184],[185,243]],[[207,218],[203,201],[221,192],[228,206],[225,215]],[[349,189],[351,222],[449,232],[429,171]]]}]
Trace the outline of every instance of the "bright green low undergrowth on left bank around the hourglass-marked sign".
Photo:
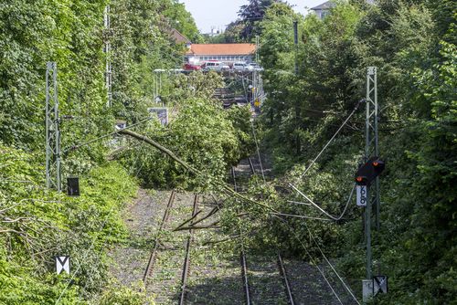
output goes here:
[{"label": "bright green low undergrowth on left bank around the hourglass-marked sign", "polygon": [[[80,197],[68,197],[43,188],[36,155],[0,152],[0,303],[76,303],[97,293],[107,280],[104,247],[124,236],[120,210],[136,195],[135,181],[110,163],[81,180]],[[64,254],[72,285],[55,275],[54,257]]]}]

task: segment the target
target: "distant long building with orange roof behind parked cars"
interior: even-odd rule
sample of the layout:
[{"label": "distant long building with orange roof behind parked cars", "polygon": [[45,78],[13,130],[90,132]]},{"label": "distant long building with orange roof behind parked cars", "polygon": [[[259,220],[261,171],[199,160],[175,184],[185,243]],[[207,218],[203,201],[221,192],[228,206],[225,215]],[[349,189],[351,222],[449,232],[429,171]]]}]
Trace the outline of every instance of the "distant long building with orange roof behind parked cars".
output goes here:
[{"label": "distant long building with orange roof behind parked cars", "polygon": [[186,62],[201,64],[210,60],[227,63],[252,61],[255,51],[254,44],[192,44],[186,52]]}]

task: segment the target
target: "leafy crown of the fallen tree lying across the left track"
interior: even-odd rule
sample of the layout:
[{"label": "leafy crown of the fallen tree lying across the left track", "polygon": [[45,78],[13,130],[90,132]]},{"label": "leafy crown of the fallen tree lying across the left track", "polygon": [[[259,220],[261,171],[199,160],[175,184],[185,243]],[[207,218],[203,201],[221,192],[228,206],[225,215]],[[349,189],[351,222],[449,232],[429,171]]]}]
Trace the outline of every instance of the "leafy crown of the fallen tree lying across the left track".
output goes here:
[{"label": "leafy crown of the fallen tree lying across the left track", "polygon": [[250,110],[247,107],[222,109],[212,94],[222,86],[216,73],[194,72],[173,80],[167,101],[170,123],[158,121],[143,134],[159,142],[204,176],[192,177],[182,166],[147,144],[123,153],[126,163],[137,158],[139,175],[148,186],[207,190],[225,179],[230,165],[250,152]]}]

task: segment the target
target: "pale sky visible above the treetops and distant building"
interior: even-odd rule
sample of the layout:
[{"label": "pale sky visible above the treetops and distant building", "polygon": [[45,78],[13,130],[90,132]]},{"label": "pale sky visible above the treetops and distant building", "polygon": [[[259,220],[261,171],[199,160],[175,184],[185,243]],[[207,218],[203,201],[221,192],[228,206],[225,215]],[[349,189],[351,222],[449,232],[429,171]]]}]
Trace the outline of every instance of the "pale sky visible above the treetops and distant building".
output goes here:
[{"label": "pale sky visible above the treetops and distant building", "polygon": [[[314,7],[326,0],[288,0],[294,5],[295,11],[306,14],[305,6]],[[211,27],[225,28],[230,22],[238,17],[239,7],[248,4],[248,0],[180,0],[186,5],[197,22],[197,27],[202,33],[211,32]]]}]

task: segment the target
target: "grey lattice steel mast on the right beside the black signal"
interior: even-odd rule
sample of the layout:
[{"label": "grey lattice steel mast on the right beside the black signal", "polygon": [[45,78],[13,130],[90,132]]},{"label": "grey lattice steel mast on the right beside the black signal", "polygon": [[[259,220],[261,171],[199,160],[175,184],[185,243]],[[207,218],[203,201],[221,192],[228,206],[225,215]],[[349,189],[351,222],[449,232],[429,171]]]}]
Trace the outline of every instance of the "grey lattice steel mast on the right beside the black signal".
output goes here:
[{"label": "grey lattice steel mast on the right beside the black signal", "polygon": [[[379,156],[377,133],[378,106],[377,106],[377,68],[367,68],[367,117],[365,121],[365,162],[371,157]],[[379,229],[379,177],[375,185],[367,186],[367,206],[365,208],[365,235],[367,243],[367,280],[373,279],[372,251],[371,251],[371,208],[376,208],[376,225]],[[379,270],[378,270],[379,271]],[[365,293],[364,293],[365,296]]]}]

